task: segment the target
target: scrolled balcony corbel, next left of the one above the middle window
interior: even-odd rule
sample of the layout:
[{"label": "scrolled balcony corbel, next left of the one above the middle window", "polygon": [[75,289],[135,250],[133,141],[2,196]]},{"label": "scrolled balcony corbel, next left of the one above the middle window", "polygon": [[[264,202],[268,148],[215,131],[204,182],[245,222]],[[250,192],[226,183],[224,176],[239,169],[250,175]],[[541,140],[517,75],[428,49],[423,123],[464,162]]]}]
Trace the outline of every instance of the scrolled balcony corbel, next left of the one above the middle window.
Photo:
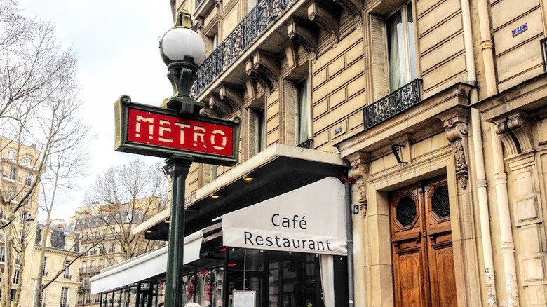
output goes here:
[{"label": "scrolled balcony corbel, next left of the one above the middle window", "polygon": [[278,62],[274,57],[258,50],[245,63],[245,71],[271,93],[279,84]]}]

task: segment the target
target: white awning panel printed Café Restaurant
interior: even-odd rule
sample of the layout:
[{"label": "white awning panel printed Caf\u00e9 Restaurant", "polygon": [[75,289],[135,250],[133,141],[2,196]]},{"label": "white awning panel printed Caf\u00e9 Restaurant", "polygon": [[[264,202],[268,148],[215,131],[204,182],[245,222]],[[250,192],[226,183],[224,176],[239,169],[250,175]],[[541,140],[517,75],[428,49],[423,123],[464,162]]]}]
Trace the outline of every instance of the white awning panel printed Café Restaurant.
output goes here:
[{"label": "white awning panel printed Caf\u00e9 Restaurant", "polygon": [[344,185],[328,177],[222,216],[225,246],[347,254]]}]

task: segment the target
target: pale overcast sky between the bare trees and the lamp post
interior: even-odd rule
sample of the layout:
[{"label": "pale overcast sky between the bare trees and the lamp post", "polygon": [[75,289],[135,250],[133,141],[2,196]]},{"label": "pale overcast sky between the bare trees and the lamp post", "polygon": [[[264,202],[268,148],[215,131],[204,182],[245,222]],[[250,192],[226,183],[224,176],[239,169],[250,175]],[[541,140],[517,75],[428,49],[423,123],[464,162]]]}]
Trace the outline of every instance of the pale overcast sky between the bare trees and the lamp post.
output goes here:
[{"label": "pale overcast sky between the bare trees and the lamp post", "polygon": [[134,102],[159,105],[171,94],[158,50],[158,37],[173,26],[168,0],[20,0],[26,15],[55,25],[60,41],[79,57],[82,114],[97,139],[90,144],[89,175],[80,191],[62,195],[53,217],[66,219],[83,205],[86,189],[100,172],[135,158],[114,151],[114,102],[123,94]]}]

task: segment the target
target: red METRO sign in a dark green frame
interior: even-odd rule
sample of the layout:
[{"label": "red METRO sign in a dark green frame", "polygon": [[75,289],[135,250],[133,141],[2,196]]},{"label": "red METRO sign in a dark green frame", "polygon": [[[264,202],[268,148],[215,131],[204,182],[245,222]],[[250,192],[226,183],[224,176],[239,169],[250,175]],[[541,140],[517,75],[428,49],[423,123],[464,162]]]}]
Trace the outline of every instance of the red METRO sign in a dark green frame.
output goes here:
[{"label": "red METRO sign in a dark green frame", "polygon": [[131,102],[122,96],[114,104],[114,150],[231,166],[238,162],[240,118],[225,120]]}]

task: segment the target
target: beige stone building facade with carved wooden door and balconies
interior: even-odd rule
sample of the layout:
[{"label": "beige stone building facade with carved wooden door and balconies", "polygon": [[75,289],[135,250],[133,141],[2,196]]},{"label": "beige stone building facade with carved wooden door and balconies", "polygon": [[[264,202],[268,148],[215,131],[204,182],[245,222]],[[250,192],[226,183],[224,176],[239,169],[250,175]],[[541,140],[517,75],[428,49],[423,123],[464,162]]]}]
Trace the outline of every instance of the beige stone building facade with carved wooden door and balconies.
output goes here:
[{"label": "beige stone building facade with carved wooden door and balconies", "polygon": [[[211,242],[189,269],[189,301],[217,306],[203,292],[216,274],[221,306],[246,289],[259,294],[256,306],[547,304],[546,3],[170,3],[194,15],[206,42],[193,88],[201,113],[242,118],[238,165],[194,164],[187,178],[186,231]],[[243,186],[253,173],[255,186]],[[271,279],[270,260],[288,257],[288,247],[258,249],[269,270],[250,273],[267,287],[238,283],[234,246],[212,243],[211,219],[222,219],[224,240],[232,212],[329,176],[351,189],[340,301],[327,301],[327,278],[313,302],[295,290],[306,278]],[[141,230],[165,239],[168,217]],[[220,258],[235,264],[231,273],[201,260],[215,249],[227,252]],[[307,255],[289,261],[304,267]],[[293,290],[276,292],[272,281]]]}]

